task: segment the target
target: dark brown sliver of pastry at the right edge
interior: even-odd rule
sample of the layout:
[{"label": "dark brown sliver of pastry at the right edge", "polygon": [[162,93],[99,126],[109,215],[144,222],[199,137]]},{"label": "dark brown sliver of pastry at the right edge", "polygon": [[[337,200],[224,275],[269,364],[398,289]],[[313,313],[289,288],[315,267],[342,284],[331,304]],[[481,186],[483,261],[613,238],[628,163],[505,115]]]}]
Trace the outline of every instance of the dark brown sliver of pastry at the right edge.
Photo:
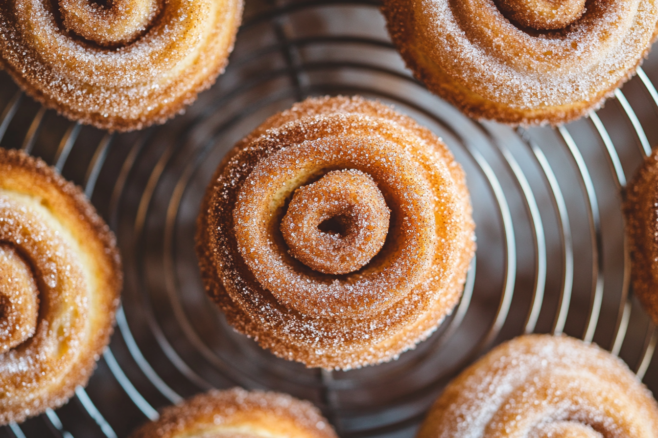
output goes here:
[{"label": "dark brown sliver of pastry at the right edge", "polygon": [[658,152],[644,160],[626,188],[626,235],[633,293],[658,324]]}]

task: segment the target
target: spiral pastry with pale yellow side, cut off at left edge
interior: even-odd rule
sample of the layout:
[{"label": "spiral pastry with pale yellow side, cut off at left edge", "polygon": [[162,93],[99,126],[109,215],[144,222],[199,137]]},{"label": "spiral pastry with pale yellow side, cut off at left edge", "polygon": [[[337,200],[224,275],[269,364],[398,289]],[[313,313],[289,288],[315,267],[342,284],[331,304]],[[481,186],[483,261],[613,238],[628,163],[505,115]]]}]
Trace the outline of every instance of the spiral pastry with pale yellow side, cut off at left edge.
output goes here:
[{"label": "spiral pastry with pale yellow side, cut off at left edge", "polygon": [[0,149],[0,424],[57,408],[87,384],[121,282],[114,235],[80,189]]}]

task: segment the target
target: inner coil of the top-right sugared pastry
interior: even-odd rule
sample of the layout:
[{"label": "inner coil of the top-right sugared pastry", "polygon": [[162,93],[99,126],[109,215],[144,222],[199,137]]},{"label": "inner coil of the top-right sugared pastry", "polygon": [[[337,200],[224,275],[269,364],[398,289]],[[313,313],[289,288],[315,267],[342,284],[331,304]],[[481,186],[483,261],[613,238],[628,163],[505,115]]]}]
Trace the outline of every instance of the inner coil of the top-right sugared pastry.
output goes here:
[{"label": "inner coil of the top-right sugared pastry", "polygon": [[586,0],[497,0],[501,12],[521,26],[536,30],[563,29],[585,12]]}]

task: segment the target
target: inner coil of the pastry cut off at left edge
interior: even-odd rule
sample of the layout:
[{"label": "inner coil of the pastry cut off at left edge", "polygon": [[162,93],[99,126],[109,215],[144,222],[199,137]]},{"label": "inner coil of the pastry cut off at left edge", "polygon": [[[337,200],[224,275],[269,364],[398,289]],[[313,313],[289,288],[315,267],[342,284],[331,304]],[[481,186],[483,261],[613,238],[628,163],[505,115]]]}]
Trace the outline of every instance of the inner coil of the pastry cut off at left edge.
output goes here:
[{"label": "inner coil of the pastry cut off at left edge", "polygon": [[38,313],[32,269],[13,246],[0,243],[0,353],[32,337]]}]

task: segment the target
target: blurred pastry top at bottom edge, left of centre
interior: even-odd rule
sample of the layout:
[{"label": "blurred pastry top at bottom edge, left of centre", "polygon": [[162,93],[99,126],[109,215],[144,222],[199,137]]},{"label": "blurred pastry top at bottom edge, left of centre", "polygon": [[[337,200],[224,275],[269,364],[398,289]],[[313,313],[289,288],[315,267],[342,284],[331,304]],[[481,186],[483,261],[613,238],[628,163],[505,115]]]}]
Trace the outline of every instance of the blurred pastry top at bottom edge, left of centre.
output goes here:
[{"label": "blurred pastry top at bottom edge, left of centre", "polygon": [[337,438],[329,422],[307,401],[290,395],[213,389],[178,406],[131,438]]}]

